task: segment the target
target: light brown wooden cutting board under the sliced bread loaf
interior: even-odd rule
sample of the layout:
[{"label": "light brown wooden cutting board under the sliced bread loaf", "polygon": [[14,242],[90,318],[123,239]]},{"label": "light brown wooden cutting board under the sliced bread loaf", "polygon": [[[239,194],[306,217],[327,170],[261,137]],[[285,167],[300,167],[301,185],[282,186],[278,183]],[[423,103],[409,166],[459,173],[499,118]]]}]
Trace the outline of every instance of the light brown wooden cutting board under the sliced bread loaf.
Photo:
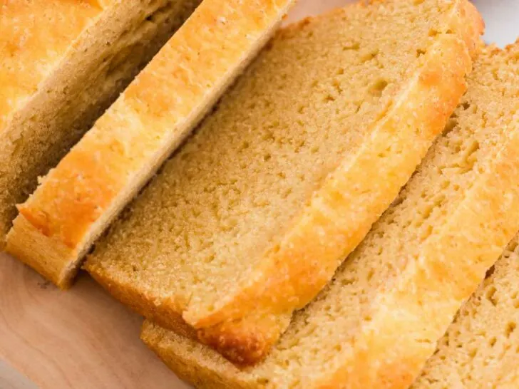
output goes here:
[{"label": "light brown wooden cutting board under the sliced bread loaf", "polygon": [[[300,0],[287,21],[351,0]],[[187,389],[139,340],[143,319],[86,274],[58,291],[0,254],[1,389]]]}]

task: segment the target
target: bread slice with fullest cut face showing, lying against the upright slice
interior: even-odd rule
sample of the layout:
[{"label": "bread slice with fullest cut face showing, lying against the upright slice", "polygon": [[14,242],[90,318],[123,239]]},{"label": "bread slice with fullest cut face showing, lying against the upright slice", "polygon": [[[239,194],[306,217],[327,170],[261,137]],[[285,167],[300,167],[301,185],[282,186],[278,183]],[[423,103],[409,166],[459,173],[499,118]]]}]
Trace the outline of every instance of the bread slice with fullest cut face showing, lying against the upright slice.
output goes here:
[{"label": "bread slice with fullest cut face showing, lying against the upright slice", "polygon": [[277,34],[98,244],[101,284],[232,361],[264,356],[466,89],[482,30],[468,1],[365,4]]}]

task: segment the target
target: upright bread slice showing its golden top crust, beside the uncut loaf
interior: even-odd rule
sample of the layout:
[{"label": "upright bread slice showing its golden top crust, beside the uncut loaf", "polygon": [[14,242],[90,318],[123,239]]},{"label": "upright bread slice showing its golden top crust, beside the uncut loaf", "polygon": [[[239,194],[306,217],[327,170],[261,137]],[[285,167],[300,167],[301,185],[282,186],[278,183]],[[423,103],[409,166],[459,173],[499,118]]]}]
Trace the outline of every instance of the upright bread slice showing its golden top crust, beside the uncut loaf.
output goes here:
[{"label": "upright bread slice showing its golden top crust, beside the uncut loaf", "polygon": [[293,0],[205,0],[29,199],[7,251],[61,288],[111,219],[271,36]]}]

